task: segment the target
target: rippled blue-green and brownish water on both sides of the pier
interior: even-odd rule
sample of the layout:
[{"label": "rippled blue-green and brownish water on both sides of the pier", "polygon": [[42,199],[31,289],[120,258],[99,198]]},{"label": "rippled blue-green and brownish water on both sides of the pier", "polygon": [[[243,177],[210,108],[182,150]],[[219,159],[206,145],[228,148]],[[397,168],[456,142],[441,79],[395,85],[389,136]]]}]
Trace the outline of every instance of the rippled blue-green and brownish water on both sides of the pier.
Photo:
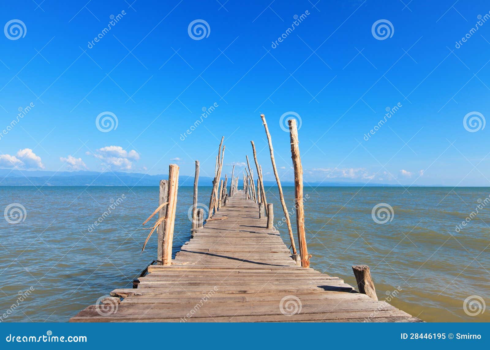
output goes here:
[{"label": "rippled blue-green and brownish water on both sides of the pier", "polygon": [[[192,191],[179,188],[174,252],[190,239]],[[208,202],[210,192],[199,187],[199,201]],[[284,193],[295,234],[294,188]],[[490,311],[482,312],[490,302],[484,205],[490,188],[305,187],[304,193],[314,269],[353,285],[351,266],[367,264],[378,298],[424,321],[490,321]],[[267,199],[289,246],[286,226],[278,224],[277,188],[267,189]],[[482,209],[457,232],[479,199]],[[141,224],[158,206],[158,187],[0,187],[0,208],[13,203],[24,208],[10,206],[0,224],[0,321],[67,321],[113,289],[131,288],[156,259],[156,233],[141,253],[148,233]],[[383,224],[371,215],[379,203],[392,207]],[[478,298],[466,302],[465,312],[471,296]]]}]

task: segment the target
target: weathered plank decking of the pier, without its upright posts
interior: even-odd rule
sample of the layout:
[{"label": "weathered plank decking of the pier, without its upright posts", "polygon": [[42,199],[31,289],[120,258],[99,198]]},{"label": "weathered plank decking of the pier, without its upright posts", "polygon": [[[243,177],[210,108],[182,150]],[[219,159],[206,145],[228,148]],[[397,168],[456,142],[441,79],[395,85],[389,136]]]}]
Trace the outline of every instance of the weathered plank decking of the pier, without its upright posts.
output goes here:
[{"label": "weathered plank decking of the pier, without its upright posts", "polygon": [[[172,260],[151,265],[110,312],[91,305],[71,322],[420,322],[339,277],[301,268],[257,203],[238,191]],[[116,306],[117,305],[117,306]]]}]

